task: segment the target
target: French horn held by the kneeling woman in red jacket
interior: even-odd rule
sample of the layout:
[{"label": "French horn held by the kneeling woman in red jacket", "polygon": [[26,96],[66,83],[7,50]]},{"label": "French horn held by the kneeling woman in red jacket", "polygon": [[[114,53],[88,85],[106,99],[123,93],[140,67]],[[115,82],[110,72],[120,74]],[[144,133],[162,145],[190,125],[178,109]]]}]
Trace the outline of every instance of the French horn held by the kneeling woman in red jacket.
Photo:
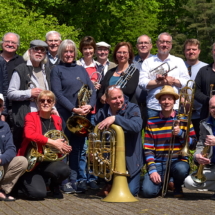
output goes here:
[{"label": "French horn held by the kneeling woman in red jacket", "polygon": [[[52,140],[64,139],[69,144],[69,140],[67,136],[62,131],[59,131],[59,130],[47,131],[44,134],[44,136]],[[60,161],[60,160],[63,160],[67,155],[67,154],[62,154],[58,149],[48,145],[43,145],[42,148],[43,148],[43,153],[40,153],[38,152],[37,143],[35,142],[29,143],[29,146],[26,150],[26,155],[25,155],[25,157],[28,160],[28,167],[26,170],[27,172],[31,172],[34,169],[37,162]]]}]

